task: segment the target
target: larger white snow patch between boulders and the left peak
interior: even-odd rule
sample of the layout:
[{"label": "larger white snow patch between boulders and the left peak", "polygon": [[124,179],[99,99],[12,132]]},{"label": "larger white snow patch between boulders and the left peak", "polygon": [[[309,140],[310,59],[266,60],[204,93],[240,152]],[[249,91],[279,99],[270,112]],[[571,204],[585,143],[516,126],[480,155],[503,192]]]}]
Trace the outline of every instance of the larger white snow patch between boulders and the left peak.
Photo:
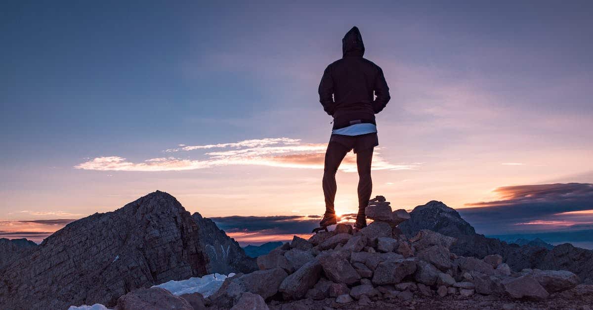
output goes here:
[{"label": "larger white snow patch between boulders and the left peak", "polygon": [[[230,273],[228,277],[234,276],[234,273]],[[198,292],[204,297],[208,297],[222,286],[227,276],[224,274],[207,274],[203,277],[193,277],[186,280],[175,281],[171,280],[165,283],[154,285],[152,287],[161,287],[162,289],[168,290],[173,295],[180,296],[183,294],[190,294]]]}]

